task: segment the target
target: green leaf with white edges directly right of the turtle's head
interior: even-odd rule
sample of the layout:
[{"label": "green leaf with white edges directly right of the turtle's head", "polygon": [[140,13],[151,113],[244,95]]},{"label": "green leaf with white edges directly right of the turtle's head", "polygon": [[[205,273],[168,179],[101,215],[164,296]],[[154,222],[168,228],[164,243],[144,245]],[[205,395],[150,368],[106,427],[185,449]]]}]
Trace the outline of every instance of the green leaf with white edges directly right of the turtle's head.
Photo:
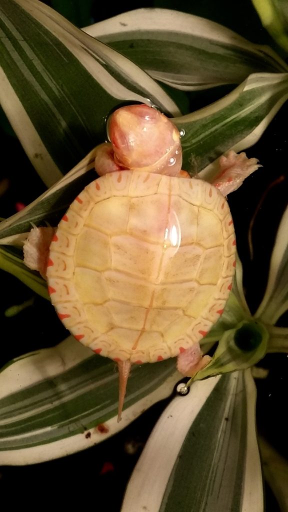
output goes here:
[{"label": "green leaf with white edges directly right of the turtle's head", "polygon": [[217,159],[255,144],[287,98],[288,74],[257,73],[215,103],[174,119],[184,134],[183,169],[213,182]]}]

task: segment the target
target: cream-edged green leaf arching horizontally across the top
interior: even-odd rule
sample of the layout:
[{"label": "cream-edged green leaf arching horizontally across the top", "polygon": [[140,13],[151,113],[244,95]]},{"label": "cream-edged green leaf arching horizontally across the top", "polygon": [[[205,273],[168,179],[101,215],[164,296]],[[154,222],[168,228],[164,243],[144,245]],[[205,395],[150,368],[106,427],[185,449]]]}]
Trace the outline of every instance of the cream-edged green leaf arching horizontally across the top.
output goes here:
[{"label": "cream-edged green leaf arching horizontally across the top", "polygon": [[287,72],[269,47],[193,14],[136,9],[83,29],[160,82],[177,89],[240,83],[252,73]]}]

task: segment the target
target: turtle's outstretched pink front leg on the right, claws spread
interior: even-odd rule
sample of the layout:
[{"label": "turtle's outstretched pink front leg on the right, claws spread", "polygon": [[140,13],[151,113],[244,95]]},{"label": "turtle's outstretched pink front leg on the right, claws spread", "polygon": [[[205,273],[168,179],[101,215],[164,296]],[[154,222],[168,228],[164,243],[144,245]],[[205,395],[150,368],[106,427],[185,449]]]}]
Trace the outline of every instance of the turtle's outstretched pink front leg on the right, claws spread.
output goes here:
[{"label": "turtle's outstretched pink front leg on the right, claws spread", "polygon": [[262,167],[257,158],[248,158],[245,153],[229,151],[219,158],[219,174],[213,185],[217,187],[223,196],[227,196],[239,188],[244,179]]}]

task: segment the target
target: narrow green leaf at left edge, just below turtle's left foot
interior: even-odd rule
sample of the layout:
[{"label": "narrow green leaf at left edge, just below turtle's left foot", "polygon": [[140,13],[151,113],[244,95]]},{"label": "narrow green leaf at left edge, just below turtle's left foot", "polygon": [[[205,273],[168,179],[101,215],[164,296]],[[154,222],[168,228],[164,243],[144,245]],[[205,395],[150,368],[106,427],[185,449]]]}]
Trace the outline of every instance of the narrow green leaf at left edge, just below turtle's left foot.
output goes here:
[{"label": "narrow green leaf at left edge, just below turtle's left foot", "polygon": [[38,272],[33,272],[24,265],[21,255],[17,254],[15,249],[0,248],[0,268],[14,275],[42,297],[49,299],[44,279],[40,277]]}]

